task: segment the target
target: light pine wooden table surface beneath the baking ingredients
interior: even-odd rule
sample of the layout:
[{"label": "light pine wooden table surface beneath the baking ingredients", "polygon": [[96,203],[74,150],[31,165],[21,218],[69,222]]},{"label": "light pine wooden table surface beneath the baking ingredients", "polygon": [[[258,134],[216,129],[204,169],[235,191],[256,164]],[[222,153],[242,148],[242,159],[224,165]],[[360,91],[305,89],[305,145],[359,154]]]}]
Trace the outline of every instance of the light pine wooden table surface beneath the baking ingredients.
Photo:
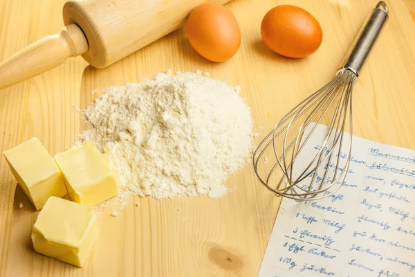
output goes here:
[{"label": "light pine wooden table surface beneath the baking ingredients", "polygon": [[[315,15],[324,33],[319,51],[302,60],[275,55],[261,42],[262,17],[288,2]],[[355,87],[354,134],[415,149],[415,1],[387,3],[389,22]],[[57,33],[63,4],[1,0],[0,60]],[[75,108],[89,105],[93,89],[151,78],[166,69],[200,69],[241,85],[255,126],[263,126],[264,134],[299,100],[331,80],[374,6],[376,0],[232,1],[228,7],[241,26],[242,44],[237,55],[221,64],[197,55],[184,28],[107,69],[73,58],[0,91],[0,152],[33,136],[51,154],[62,152],[83,127]],[[226,186],[237,190],[222,199],[155,202],[131,197],[118,217],[109,216],[115,209],[109,208],[100,217],[101,234],[91,258],[78,269],[33,251],[30,232],[37,212],[16,189],[1,156],[0,276],[256,276],[280,199],[259,185],[250,164]]]}]

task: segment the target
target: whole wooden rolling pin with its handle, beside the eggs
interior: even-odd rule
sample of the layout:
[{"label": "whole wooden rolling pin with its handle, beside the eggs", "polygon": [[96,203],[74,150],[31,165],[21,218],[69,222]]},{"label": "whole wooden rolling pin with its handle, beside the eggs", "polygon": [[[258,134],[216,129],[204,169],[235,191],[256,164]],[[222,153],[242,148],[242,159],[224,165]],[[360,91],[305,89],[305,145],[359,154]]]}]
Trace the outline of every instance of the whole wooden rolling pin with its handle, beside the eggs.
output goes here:
[{"label": "whole wooden rolling pin with its handle, beside the eggs", "polygon": [[[227,3],[230,0],[212,0]],[[196,6],[208,0],[71,0],[66,25],[0,63],[0,89],[35,77],[82,55],[103,68],[178,29]]]}]

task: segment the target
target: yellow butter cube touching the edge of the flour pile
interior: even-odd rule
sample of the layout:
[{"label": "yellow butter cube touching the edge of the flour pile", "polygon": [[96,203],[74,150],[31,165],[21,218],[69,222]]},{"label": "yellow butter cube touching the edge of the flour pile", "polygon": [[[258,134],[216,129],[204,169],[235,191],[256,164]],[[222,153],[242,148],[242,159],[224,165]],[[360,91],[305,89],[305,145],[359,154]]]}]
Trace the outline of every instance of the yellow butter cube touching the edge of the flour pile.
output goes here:
[{"label": "yellow butter cube touching the edge of the flour pile", "polygon": [[92,142],[55,156],[72,201],[94,206],[118,195],[118,176]]}]

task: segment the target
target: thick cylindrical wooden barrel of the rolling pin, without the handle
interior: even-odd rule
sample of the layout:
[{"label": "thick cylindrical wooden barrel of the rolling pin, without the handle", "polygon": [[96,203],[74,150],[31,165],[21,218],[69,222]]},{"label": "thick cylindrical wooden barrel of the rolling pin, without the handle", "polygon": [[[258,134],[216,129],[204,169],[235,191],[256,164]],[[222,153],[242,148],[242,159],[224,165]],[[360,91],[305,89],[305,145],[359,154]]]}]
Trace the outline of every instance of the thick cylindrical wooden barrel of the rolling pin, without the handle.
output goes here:
[{"label": "thick cylindrical wooden barrel of the rolling pin, without the handle", "polygon": [[196,6],[207,1],[69,0],[63,17],[66,25],[80,26],[89,44],[82,57],[101,69],[178,29]]}]

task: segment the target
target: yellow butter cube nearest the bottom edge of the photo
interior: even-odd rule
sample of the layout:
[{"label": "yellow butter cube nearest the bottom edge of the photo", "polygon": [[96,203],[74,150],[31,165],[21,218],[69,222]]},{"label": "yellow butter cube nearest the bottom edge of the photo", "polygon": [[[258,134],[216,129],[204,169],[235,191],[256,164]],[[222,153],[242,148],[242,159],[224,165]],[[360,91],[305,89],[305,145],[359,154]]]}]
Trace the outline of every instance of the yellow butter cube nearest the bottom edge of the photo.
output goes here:
[{"label": "yellow butter cube nearest the bottom edge of the photo", "polygon": [[35,251],[82,267],[100,233],[92,208],[50,197],[32,231]]}]

